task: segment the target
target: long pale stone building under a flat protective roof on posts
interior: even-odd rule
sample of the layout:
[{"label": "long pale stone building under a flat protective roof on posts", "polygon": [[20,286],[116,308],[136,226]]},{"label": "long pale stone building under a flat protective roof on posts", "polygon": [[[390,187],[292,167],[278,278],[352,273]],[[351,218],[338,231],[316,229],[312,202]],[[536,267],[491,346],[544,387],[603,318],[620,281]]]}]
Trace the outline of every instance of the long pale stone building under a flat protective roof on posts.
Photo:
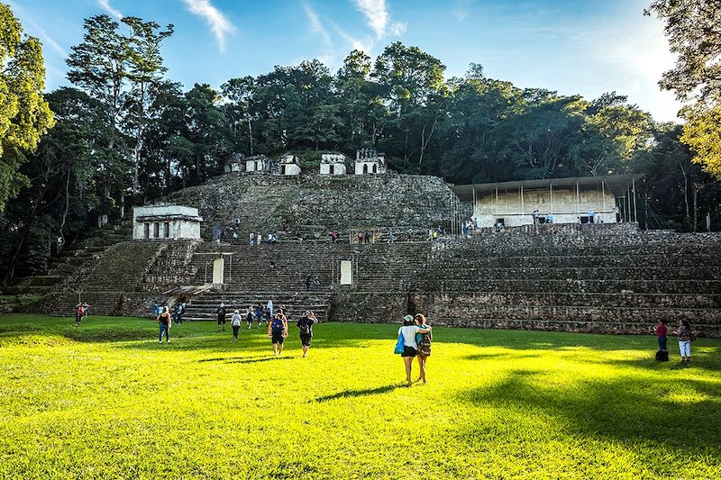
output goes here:
[{"label": "long pale stone building under a flat protective roof on posts", "polygon": [[635,222],[635,182],[643,175],[546,178],[452,186],[473,205],[477,227],[533,223]]}]

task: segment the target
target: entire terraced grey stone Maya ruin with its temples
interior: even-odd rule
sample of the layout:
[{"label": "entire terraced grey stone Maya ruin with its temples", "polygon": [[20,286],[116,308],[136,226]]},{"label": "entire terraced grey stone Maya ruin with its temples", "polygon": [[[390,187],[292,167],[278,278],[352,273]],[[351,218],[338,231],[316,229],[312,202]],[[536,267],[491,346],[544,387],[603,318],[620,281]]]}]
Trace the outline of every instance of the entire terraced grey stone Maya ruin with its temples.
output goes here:
[{"label": "entire terraced grey stone Maya ruin with its temples", "polygon": [[[329,156],[320,171],[282,175],[245,158],[245,171],[69,246],[21,285],[42,294],[27,308],[69,315],[82,299],[95,314],[147,316],[157,300],[210,320],[221,302],[273,300],[291,320],[307,308],[337,322],[427,312],[435,325],[646,334],[688,319],[721,337],[721,235],[640,229],[637,177],[452,186],[381,159],[359,152],[344,174],[327,167],[345,158]],[[534,210],[558,220],[534,222]],[[499,218],[504,228],[490,228]],[[454,219],[473,228],[461,234]],[[214,230],[235,235],[213,241]],[[250,245],[259,232],[277,242]]]}]

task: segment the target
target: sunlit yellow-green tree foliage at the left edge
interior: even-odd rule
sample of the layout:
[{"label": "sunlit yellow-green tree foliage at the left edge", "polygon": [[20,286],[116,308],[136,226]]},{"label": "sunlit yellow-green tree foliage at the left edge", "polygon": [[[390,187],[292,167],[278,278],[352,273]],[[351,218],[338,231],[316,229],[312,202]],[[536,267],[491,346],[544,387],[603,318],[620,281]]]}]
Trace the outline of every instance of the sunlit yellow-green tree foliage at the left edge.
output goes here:
[{"label": "sunlit yellow-green tree foliage at the left edge", "polygon": [[0,4],[0,212],[28,185],[20,173],[25,153],[37,148],[54,124],[42,96],[45,65],[41,42],[23,35],[10,7]]}]

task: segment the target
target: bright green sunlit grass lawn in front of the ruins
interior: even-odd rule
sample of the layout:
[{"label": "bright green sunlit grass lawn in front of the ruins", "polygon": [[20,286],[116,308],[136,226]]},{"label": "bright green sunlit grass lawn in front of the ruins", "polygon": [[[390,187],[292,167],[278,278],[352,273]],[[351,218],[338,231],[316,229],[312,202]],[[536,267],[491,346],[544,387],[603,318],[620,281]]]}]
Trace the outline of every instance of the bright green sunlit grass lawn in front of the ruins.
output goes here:
[{"label": "bright green sunlit grass lawn in front of the ruins", "polygon": [[215,328],[0,317],[0,476],[721,476],[721,340],[437,328],[405,388],[397,326]]}]

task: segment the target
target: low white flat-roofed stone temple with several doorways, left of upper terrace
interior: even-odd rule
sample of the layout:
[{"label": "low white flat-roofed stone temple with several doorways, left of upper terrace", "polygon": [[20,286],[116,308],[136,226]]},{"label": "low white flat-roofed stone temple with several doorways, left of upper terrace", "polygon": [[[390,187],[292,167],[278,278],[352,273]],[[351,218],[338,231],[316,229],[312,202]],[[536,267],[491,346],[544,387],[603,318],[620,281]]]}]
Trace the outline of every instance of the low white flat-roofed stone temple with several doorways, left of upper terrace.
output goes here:
[{"label": "low white flat-roofed stone temple with several doorways, left of upper terrace", "polygon": [[197,209],[180,205],[148,205],[132,209],[132,240],[200,240]]}]

